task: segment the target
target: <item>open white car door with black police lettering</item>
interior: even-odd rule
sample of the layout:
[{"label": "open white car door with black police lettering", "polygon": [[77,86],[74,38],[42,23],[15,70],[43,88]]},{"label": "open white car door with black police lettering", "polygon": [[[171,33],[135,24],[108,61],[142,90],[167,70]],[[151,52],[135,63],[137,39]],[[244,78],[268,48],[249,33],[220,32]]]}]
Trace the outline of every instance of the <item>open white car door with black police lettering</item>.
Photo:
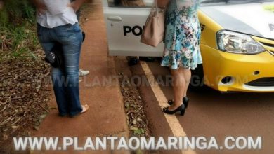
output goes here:
[{"label": "open white car door with black police lettering", "polygon": [[140,42],[145,21],[153,0],[103,0],[109,55],[151,56],[163,55],[164,43],[157,48]]}]

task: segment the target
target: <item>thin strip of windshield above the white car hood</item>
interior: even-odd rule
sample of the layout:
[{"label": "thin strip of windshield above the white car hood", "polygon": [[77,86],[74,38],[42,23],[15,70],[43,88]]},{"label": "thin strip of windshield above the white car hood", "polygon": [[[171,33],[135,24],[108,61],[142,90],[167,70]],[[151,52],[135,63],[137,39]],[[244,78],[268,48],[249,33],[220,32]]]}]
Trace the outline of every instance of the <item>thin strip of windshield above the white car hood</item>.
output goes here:
[{"label": "thin strip of windshield above the white car hood", "polygon": [[274,0],[202,0],[202,4],[216,4],[216,3],[265,3],[265,2],[274,2]]}]

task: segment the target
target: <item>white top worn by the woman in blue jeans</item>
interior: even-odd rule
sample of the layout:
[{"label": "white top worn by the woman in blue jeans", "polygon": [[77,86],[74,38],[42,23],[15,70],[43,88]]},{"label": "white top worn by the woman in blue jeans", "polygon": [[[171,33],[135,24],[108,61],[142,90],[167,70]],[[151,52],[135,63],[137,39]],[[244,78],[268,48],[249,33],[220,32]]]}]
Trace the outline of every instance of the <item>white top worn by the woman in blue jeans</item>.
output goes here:
[{"label": "white top worn by the woman in blue jeans", "polygon": [[73,8],[67,7],[70,0],[40,0],[46,5],[46,13],[37,13],[37,22],[39,25],[47,28],[58,27],[62,25],[78,22],[77,15]]}]

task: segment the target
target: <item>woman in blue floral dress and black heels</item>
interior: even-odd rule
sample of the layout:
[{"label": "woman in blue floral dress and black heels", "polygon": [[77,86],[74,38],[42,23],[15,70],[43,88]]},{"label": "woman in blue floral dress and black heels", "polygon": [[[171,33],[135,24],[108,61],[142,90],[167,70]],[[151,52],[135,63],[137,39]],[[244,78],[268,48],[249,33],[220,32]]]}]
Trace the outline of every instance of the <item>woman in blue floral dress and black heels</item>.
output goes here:
[{"label": "woman in blue floral dress and black heels", "polygon": [[[166,1],[166,0],[164,0]],[[163,1],[158,0],[159,6]],[[191,71],[202,63],[200,54],[200,23],[197,10],[200,0],[169,0],[166,12],[166,34],[162,66],[169,66],[173,76],[174,101],[164,108],[164,113],[185,113],[188,106],[186,93]]]}]

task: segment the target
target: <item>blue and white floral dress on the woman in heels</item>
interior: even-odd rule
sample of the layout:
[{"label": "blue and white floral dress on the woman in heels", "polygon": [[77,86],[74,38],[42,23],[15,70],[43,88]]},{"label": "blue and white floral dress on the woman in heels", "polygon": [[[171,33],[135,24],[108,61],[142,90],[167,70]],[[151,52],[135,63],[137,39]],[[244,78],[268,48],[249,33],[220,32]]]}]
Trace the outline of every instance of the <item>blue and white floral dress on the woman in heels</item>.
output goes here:
[{"label": "blue and white floral dress on the woman in heels", "polygon": [[197,9],[200,0],[170,0],[166,12],[165,49],[162,66],[170,69],[195,69],[202,64],[200,23]]}]

